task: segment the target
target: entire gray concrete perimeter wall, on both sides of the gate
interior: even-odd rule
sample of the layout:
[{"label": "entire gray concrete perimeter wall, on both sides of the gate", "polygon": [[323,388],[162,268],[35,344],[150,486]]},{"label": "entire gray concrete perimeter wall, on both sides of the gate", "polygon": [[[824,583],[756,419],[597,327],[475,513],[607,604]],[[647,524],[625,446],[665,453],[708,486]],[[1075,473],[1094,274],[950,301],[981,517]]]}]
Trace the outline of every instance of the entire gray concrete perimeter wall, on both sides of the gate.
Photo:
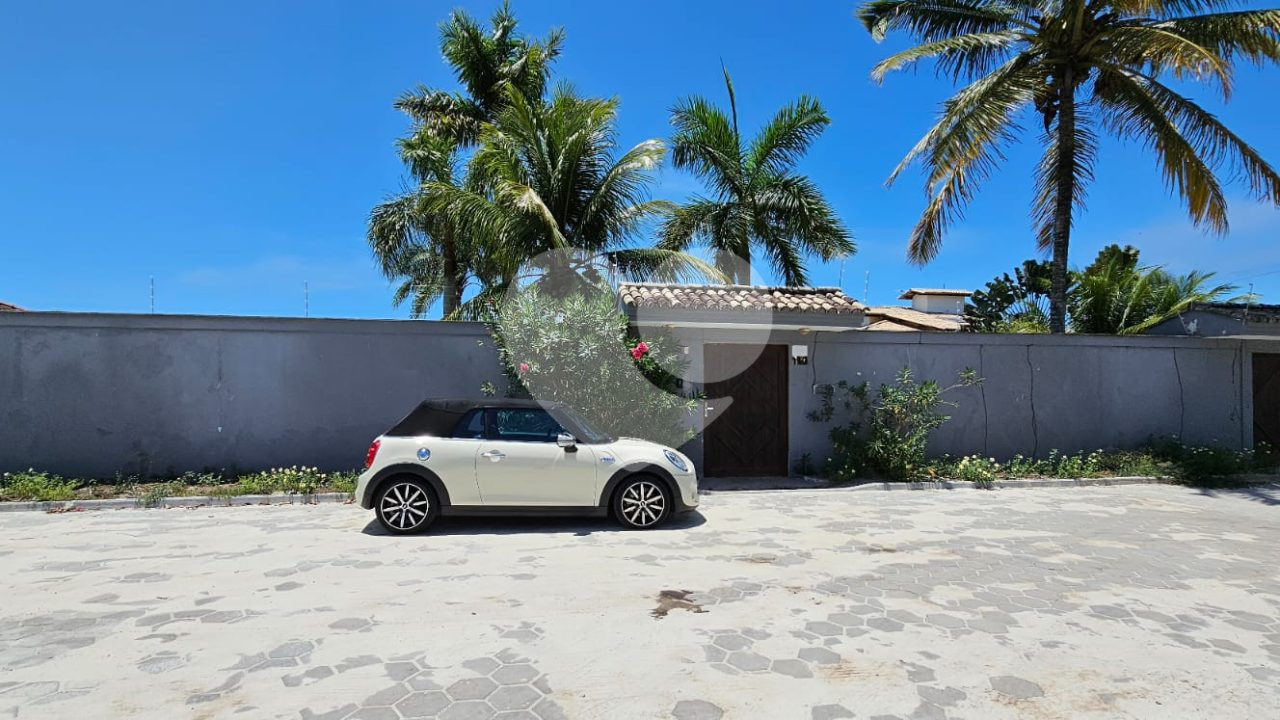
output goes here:
[{"label": "entire gray concrete perimeter wall, on both sides of the gate", "polygon": [[[806,414],[815,386],[892,382],[904,366],[951,382],[934,454],[1043,456],[1135,447],[1152,436],[1252,446],[1251,354],[1280,341],[676,328],[696,391],[703,345],[806,345],[790,365],[790,460],[828,451]],[[351,469],[420,398],[502,386],[483,325],[26,313],[0,315],[0,470],[166,475],[279,465]],[[692,419],[695,425],[700,419]],[[700,464],[701,443],[685,450]]]}]

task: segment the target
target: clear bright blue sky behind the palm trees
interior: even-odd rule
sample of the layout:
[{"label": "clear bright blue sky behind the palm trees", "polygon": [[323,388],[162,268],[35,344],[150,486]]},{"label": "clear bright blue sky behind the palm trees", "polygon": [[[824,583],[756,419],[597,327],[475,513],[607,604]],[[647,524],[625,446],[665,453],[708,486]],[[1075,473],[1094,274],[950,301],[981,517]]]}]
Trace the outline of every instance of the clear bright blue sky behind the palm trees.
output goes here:
[{"label": "clear bright blue sky behind the palm trees", "polygon": [[[339,0],[5,3],[0,5],[0,300],[38,310],[407,316],[390,304],[364,241],[369,209],[399,188],[390,104],[419,83],[452,87],[436,24],[454,3]],[[494,3],[463,3],[488,17]],[[918,268],[906,237],[919,177],[884,178],[952,90],[931,72],[883,86],[850,1],[516,1],[522,29],[567,31],[558,77],[618,96],[620,140],[669,133],[685,95],[723,99],[733,73],[745,128],[817,95],[833,123],[801,169],[854,232],[844,287],[893,302],[906,287],[973,288],[1034,255],[1028,199],[1037,158],[1009,152],[941,256]],[[780,10],[781,9],[781,10]],[[1189,88],[1280,163],[1280,70],[1242,67],[1224,105]],[[1030,124],[1034,128],[1034,124]],[[1074,264],[1129,242],[1147,263],[1217,270],[1280,302],[1280,213],[1229,186],[1233,231],[1206,236],[1165,191],[1143,149],[1103,143]],[[673,169],[658,193],[696,181]],[[869,273],[869,283],[867,282]],[[810,263],[815,284],[841,264]],[[765,279],[768,275],[765,275]]]}]

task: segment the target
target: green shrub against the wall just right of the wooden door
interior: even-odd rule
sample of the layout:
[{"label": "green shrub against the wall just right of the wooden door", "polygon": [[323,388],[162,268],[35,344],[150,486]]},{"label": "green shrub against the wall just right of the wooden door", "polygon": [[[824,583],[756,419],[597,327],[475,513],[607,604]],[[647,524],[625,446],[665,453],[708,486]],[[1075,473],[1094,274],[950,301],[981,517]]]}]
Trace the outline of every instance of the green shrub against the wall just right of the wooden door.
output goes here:
[{"label": "green shrub against the wall just right of the wooden door", "polygon": [[943,396],[960,387],[980,383],[972,369],[960,372],[956,382],[942,387],[937,380],[916,382],[904,368],[892,384],[882,384],[870,396],[867,383],[841,380],[819,391],[822,406],[809,419],[827,421],[836,413],[836,395],[851,414],[849,423],[831,429],[832,454],[827,475],[836,482],[877,473],[891,480],[919,480],[927,477],[924,454],[929,433],[942,427],[950,415],[942,407],[955,407]]}]

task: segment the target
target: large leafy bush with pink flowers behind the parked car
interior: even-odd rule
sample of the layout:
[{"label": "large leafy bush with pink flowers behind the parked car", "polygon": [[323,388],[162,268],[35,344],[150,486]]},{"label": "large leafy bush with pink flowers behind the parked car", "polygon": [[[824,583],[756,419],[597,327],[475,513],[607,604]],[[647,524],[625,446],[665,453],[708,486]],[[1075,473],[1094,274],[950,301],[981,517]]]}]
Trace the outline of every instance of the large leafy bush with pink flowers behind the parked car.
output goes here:
[{"label": "large leafy bush with pink flowers behind the parked car", "polygon": [[564,402],[614,437],[672,447],[692,437],[696,401],[680,395],[685,355],[664,336],[630,336],[612,292],[534,286],[507,300],[492,332],[508,396]]}]

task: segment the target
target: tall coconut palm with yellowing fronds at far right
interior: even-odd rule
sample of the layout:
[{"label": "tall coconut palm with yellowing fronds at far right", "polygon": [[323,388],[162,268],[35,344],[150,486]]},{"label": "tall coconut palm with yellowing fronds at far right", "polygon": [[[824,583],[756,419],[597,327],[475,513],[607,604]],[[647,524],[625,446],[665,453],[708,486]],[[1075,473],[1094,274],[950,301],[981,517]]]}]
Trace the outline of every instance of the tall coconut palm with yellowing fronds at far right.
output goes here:
[{"label": "tall coconut palm with yellowing fronds at far right", "polygon": [[908,152],[890,181],[922,159],[929,204],[911,232],[910,258],[927,263],[996,169],[1030,108],[1043,124],[1033,215],[1051,249],[1050,328],[1066,328],[1071,214],[1093,179],[1098,129],[1155,150],[1166,183],[1193,223],[1225,233],[1226,164],[1251,192],[1280,205],[1280,176],[1211,113],[1162,81],[1207,82],[1230,96],[1233,63],[1280,59],[1280,10],[1235,10],[1239,0],[872,0],[858,12],[877,41],[901,31],[919,45],[872,70],[933,58],[968,82]]}]

